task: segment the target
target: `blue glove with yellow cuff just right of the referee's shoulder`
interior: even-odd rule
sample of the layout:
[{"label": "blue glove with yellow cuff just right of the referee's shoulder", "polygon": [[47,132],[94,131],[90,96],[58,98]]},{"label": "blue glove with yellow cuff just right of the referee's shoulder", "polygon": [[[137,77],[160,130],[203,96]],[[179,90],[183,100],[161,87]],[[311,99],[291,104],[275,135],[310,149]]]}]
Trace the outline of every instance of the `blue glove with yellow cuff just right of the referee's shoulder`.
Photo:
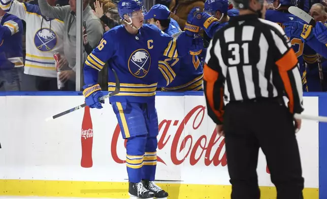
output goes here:
[{"label": "blue glove with yellow cuff just right of the referee's shoulder", "polygon": [[304,24],[300,21],[290,21],[283,23],[284,31],[287,37],[300,38],[302,42],[306,42],[314,37],[311,34],[312,25]]}]

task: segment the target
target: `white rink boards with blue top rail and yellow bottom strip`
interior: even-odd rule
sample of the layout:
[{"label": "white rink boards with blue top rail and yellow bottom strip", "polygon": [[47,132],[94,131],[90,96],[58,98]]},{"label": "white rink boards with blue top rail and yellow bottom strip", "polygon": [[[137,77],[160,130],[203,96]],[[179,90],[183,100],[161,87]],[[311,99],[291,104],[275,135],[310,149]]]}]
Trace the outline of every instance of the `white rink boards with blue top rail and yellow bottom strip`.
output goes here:
[{"label": "white rink boards with blue top rail and yellow bottom strip", "polygon": [[[315,94],[305,96],[304,114],[327,116],[327,94]],[[91,168],[81,167],[84,109],[45,122],[83,103],[77,92],[0,96],[0,195],[128,197],[124,142],[108,101],[101,110],[91,109]],[[157,93],[156,180],[171,198],[230,198],[224,139],[215,134],[205,106],[202,92]],[[303,121],[297,135],[305,198],[327,198],[326,125]],[[273,198],[262,152],[257,173],[261,198]]]}]

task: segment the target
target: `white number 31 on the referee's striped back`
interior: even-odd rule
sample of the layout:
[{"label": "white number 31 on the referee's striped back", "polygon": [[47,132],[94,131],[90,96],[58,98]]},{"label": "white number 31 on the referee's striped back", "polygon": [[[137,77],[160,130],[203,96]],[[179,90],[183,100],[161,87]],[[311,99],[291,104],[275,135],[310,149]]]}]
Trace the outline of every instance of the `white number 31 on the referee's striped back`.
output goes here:
[{"label": "white number 31 on the referee's striped back", "polygon": [[240,44],[234,43],[228,45],[228,51],[232,51],[232,58],[228,58],[228,63],[230,65],[241,63],[240,48],[243,49],[243,64],[249,63],[249,43],[244,43],[241,47]]}]

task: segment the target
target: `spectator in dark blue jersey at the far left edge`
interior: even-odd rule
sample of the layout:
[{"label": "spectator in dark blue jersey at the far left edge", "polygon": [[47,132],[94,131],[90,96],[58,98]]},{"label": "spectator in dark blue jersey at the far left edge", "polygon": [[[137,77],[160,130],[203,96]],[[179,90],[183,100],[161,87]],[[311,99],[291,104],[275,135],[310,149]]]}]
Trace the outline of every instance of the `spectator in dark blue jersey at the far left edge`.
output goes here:
[{"label": "spectator in dark blue jersey at the far left edge", "polygon": [[23,23],[0,9],[0,90],[20,91]]}]

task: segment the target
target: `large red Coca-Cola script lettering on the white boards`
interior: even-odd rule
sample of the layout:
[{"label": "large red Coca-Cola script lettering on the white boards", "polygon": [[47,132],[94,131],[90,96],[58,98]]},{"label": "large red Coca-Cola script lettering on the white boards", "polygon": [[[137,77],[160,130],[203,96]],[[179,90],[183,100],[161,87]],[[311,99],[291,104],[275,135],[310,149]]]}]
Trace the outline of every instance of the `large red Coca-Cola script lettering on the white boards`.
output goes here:
[{"label": "large red Coca-Cola script lettering on the white boards", "polygon": [[[163,150],[166,146],[169,146],[167,143],[171,141],[170,157],[172,163],[175,165],[179,165],[184,161],[189,161],[191,165],[195,165],[201,159],[204,159],[202,161],[204,161],[206,166],[213,164],[214,166],[221,165],[224,167],[227,164],[226,153],[224,150],[225,141],[223,137],[217,135],[215,130],[212,131],[210,138],[207,135],[200,136],[198,140],[195,140],[194,136],[192,135],[187,135],[184,137],[185,126],[187,124],[192,124],[192,129],[197,130],[201,126],[204,116],[205,107],[199,105],[190,110],[190,112],[186,114],[185,118],[181,122],[179,122],[179,120],[162,120],[159,123],[158,150]],[[191,118],[193,119],[192,121],[190,121]],[[169,129],[172,126],[177,126],[178,124],[179,126],[176,132],[172,133],[172,130]],[[203,132],[199,130],[195,132],[197,132],[198,136],[199,134],[203,134]],[[117,154],[117,142],[119,135],[120,127],[117,124],[111,143],[111,155],[115,162],[124,163],[125,160],[120,159]],[[213,149],[214,146],[217,148],[215,151]],[[158,152],[158,154],[160,153]],[[181,157],[181,155],[183,157]],[[204,158],[202,158],[203,156]],[[167,159],[164,160],[157,156],[157,161],[167,165]]]}]

